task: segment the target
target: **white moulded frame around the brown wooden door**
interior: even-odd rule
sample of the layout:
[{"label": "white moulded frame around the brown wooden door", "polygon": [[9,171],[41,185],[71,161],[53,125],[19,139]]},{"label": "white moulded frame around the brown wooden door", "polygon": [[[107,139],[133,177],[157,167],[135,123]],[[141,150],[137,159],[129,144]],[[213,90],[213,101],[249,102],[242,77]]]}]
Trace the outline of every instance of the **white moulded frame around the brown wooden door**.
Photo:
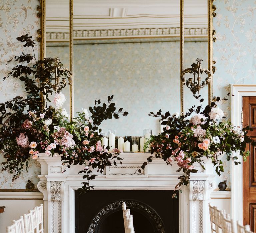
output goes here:
[{"label": "white moulded frame around the brown wooden door", "polygon": [[[236,126],[242,126],[243,96],[256,96],[256,84],[242,85],[231,84],[231,121]],[[239,161],[242,157],[238,154]],[[235,165],[233,161],[231,168],[231,215],[236,221],[243,222],[243,167],[242,164]]]}]

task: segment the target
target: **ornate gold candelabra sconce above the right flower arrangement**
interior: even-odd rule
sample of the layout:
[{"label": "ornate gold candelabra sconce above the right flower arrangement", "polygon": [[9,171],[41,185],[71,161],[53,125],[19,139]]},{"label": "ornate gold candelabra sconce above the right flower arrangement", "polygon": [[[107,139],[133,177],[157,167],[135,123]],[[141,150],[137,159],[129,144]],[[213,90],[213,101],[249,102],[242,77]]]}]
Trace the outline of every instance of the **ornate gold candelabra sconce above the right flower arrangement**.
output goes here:
[{"label": "ornate gold candelabra sconce above the right flower arrangement", "polygon": [[[181,82],[183,85],[186,84],[188,89],[193,93],[193,96],[196,97],[196,93],[200,93],[200,90],[206,87],[212,78],[211,72],[208,69],[201,68],[201,62],[203,60],[200,58],[196,59],[196,62],[191,65],[192,68],[187,68],[181,72]],[[200,77],[201,74],[205,73],[207,77],[205,81],[202,81]],[[185,74],[193,74],[193,78],[185,79]]]}]

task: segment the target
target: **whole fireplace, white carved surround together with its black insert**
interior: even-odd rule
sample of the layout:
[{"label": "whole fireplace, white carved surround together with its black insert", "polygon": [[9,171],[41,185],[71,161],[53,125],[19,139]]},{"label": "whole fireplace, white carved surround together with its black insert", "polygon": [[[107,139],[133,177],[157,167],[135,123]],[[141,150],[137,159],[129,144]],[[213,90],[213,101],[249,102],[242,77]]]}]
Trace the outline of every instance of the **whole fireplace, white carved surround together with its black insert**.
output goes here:
[{"label": "whole fireplace, white carved surround together with its black insert", "polygon": [[[77,198],[76,190],[81,188],[81,183],[84,182],[82,175],[78,174],[78,171],[82,170],[83,167],[74,165],[67,169],[62,165],[60,155],[48,157],[43,153],[40,154],[38,161],[41,164],[41,175],[38,176],[40,181],[37,187],[44,196],[45,232],[87,232],[86,230],[88,229],[86,228],[90,227],[88,226],[89,223],[82,226],[82,220],[84,222],[89,221],[92,228],[97,227],[100,232],[101,228],[103,226],[107,227],[108,222],[113,222],[113,219],[117,218],[117,215],[119,217],[120,215],[122,216],[118,211],[120,211],[120,202],[123,200],[133,206],[131,207],[131,212],[135,220],[137,220],[137,218],[142,219],[142,216],[144,216],[145,221],[143,221],[145,224],[148,224],[149,216],[139,211],[138,208],[136,209],[136,206],[143,206],[150,209],[155,216],[159,217],[159,221],[156,221],[154,225],[158,223],[160,225],[162,224],[164,230],[168,228],[168,221],[166,221],[165,217],[171,222],[176,215],[177,218],[175,221],[173,220],[173,226],[177,226],[177,228],[175,228],[177,231],[169,231],[167,229],[166,232],[168,233],[210,232],[208,203],[210,201],[210,193],[216,187],[214,182],[215,171],[211,160],[203,158],[205,170],[202,169],[200,164],[195,164],[195,168],[198,169],[198,172],[190,176],[189,184],[188,186],[182,187],[183,192],[179,194],[179,198],[172,199],[171,190],[174,190],[178,182],[178,177],[182,172],[176,172],[178,169],[176,164],[170,166],[166,165],[161,159],[156,159],[154,162],[148,164],[141,173],[134,173],[134,171],[147,160],[148,155],[149,153],[122,153],[120,156],[123,158],[123,164],[106,167],[102,174],[97,174],[98,176],[96,176],[94,180],[91,180],[90,185],[94,185],[95,187],[95,190],[90,191],[90,195],[92,196],[90,198]],[[103,192],[107,194],[98,194],[97,197],[94,196],[97,193]],[[110,195],[112,192],[117,194]],[[137,197],[132,196],[132,193],[135,195],[139,192],[143,194],[137,195]],[[152,194],[154,192],[166,192],[168,194],[161,196],[161,194]],[[119,193],[122,193],[122,195]],[[115,198],[112,198],[112,196],[115,196]],[[139,198],[139,196],[142,198]],[[165,208],[165,217],[162,215],[161,211],[154,206],[154,203],[147,202],[146,198],[159,201],[159,205]],[[99,199],[104,199],[106,202],[100,203],[98,206]],[[98,206],[98,209],[94,210],[91,216],[84,215],[87,214],[88,211],[83,210],[82,200],[97,203],[92,208],[96,209]],[[160,203],[160,201],[162,201],[162,203]],[[174,201],[173,206],[169,205],[169,202],[172,201]],[[78,203],[80,208],[79,212],[77,212],[79,208],[76,207]],[[97,214],[104,215],[105,210],[108,208],[112,208],[113,212],[109,211],[107,215],[100,218],[100,221],[95,221],[95,219],[99,217]],[[175,211],[174,214],[173,209]],[[120,221],[117,220],[117,222]],[[94,223],[95,226],[93,226]],[[114,227],[114,225],[112,226]],[[119,227],[120,229],[122,228],[122,226]],[[85,230],[83,231],[81,229]],[[112,232],[114,231],[112,230]],[[135,232],[141,231],[137,230]]]}]

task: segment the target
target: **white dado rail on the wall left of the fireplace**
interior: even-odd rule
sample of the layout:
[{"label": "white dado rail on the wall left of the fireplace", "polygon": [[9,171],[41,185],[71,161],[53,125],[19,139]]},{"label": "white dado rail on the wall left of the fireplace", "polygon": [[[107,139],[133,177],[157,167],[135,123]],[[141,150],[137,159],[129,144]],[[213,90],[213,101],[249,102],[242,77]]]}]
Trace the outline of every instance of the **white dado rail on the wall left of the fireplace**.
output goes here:
[{"label": "white dado rail on the wall left of the fireplace", "polygon": [[7,199],[22,199],[22,200],[43,200],[43,194],[41,192],[0,192],[0,200]]}]

